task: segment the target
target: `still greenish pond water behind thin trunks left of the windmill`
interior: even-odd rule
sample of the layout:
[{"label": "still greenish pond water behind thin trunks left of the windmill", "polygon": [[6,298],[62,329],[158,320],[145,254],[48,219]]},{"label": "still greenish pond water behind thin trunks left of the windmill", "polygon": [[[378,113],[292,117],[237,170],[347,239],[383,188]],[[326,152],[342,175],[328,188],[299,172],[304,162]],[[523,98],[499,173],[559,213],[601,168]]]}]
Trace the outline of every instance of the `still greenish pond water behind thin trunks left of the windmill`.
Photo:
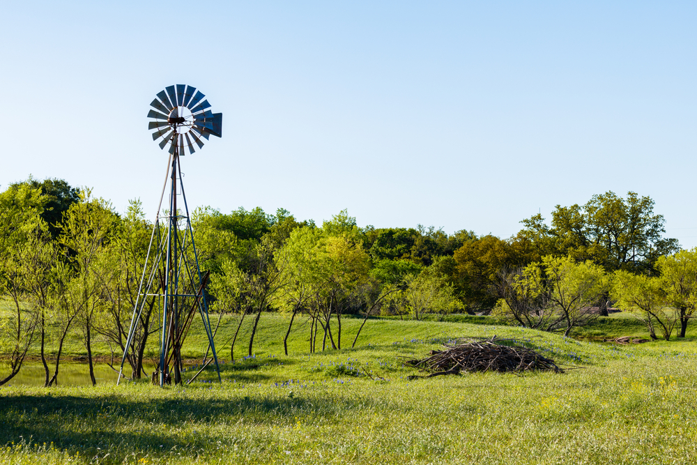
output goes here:
[{"label": "still greenish pond water behind thin trunks left of the windmill", "polygon": [[[55,362],[49,363],[49,376],[53,376]],[[116,365],[118,367],[118,365]],[[151,374],[153,367],[145,367],[145,372]],[[0,365],[0,377],[5,377],[9,373],[7,365]],[[125,376],[131,375],[130,365],[123,367]],[[97,384],[116,384],[115,372],[109,365],[105,363],[95,363],[94,377],[97,379]],[[30,361],[22,363],[22,369],[10,380],[6,386],[43,386],[45,381],[45,371],[43,364],[40,361]],[[58,371],[59,386],[91,386],[92,381],[89,378],[89,364],[84,362],[61,362]]]}]

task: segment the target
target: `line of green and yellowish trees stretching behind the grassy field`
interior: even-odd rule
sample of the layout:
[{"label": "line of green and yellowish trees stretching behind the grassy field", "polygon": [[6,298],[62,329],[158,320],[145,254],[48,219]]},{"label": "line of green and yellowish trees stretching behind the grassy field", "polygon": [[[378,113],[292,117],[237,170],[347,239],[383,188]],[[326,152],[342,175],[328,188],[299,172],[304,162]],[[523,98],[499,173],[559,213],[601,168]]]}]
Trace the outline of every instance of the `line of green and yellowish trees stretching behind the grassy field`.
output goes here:
[{"label": "line of green and yellowish trees stretching behind the grassy field", "polygon": [[[452,313],[493,312],[529,328],[562,331],[606,314],[608,302],[633,311],[652,337],[684,337],[695,307],[697,252],[664,238],[664,218],[650,197],[629,192],[595,195],[583,205],[556,206],[549,222],[535,215],[510,238],[463,229],[358,227],[341,211],[321,225],[279,208],[210,207],[192,213],[201,268],[217,326],[248,321],[245,349],[252,355],[265,312],[285,312],[289,326],[308,319],[310,352],[355,346],[371,315],[423,319]],[[12,379],[36,353],[45,386],[57,383],[63,344],[84,344],[93,383],[95,338],[112,354],[126,351],[153,224],[139,201],[118,214],[109,201],[66,181],[29,178],[0,192],[0,352]],[[158,331],[154,301],[141,314],[128,348],[132,374],[144,374],[149,338]],[[225,314],[234,319],[223,319]],[[342,318],[360,315],[348,337]],[[215,320],[214,320],[215,321]],[[55,358],[46,340],[57,341]],[[156,336],[155,336],[156,337]],[[220,349],[219,349],[220,350]]]}]

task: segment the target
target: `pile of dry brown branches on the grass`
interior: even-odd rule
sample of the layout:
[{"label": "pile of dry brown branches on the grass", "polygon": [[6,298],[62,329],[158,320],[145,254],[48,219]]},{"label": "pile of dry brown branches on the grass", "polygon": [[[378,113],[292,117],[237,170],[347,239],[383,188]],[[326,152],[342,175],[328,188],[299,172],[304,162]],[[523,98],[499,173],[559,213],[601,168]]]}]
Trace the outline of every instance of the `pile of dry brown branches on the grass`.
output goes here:
[{"label": "pile of dry brown branches on the grass", "polygon": [[[533,349],[519,345],[516,339],[470,340],[464,344],[445,344],[442,351],[431,351],[422,360],[411,358],[407,365],[429,372],[426,377],[461,372],[528,372],[533,370],[561,373],[554,360]],[[419,376],[412,376],[419,377]]]}]

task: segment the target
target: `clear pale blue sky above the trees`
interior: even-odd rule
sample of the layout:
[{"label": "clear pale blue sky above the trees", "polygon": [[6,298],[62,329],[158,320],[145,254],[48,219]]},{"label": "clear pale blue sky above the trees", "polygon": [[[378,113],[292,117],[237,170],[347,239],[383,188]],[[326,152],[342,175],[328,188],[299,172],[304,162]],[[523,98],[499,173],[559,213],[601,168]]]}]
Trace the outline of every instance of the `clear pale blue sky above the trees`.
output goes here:
[{"label": "clear pale blue sky above the trees", "polygon": [[0,188],[89,186],[154,218],[146,114],[201,89],[223,137],[190,205],[510,236],[608,190],[697,245],[697,3],[13,1],[0,16]]}]

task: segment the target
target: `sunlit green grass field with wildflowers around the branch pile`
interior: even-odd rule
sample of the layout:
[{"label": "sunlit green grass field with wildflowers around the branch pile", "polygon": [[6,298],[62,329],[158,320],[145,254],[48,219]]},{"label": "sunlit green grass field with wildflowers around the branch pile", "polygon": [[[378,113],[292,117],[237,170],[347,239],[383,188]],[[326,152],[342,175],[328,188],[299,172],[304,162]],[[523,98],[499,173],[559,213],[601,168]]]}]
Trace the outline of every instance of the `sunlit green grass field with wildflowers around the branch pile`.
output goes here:
[{"label": "sunlit green grass field with wildflowers around the branch pile", "polygon": [[[231,321],[221,328],[222,384],[207,371],[189,386],[164,389],[3,387],[0,462],[694,463],[694,328],[684,341],[613,346],[482,317],[453,320],[375,319],[357,349],[315,354],[307,353],[309,327],[299,325],[286,357],[287,319],[269,314],[255,356],[240,360],[241,344],[234,363],[223,344]],[[606,320],[586,339],[634,335],[627,333],[634,321]],[[358,325],[344,320],[342,346],[351,346]],[[493,335],[526,340],[570,369],[406,379],[416,372],[402,357],[424,356],[455,337]],[[190,358],[205,350],[200,332],[188,342]],[[70,347],[79,353],[77,340]]]}]

